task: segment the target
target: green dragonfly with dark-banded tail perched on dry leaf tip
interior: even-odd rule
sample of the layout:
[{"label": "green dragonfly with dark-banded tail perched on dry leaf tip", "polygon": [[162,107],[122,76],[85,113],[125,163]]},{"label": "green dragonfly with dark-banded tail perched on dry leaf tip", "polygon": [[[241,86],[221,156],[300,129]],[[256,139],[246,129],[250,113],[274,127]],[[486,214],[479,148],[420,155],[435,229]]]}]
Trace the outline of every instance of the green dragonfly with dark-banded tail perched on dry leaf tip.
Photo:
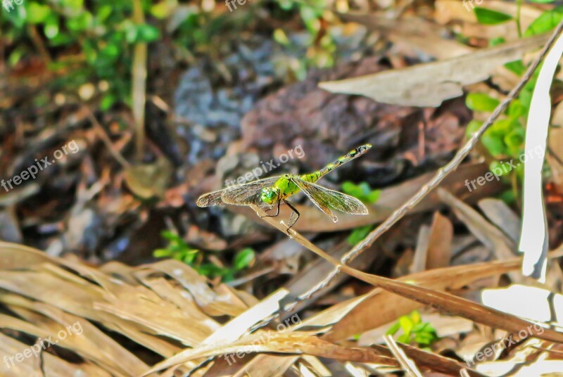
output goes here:
[{"label": "green dragonfly with dark-banded tail perched on dry leaf tip", "polygon": [[[310,174],[284,174],[277,177],[270,177],[265,179],[258,179],[258,181],[240,184],[238,186],[230,186],[223,188],[219,191],[206,193],[198,198],[198,207],[210,207],[212,205],[232,204],[232,205],[269,205],[268,210],[272,210],[273,206],[277,204],[277,212],[275,215],[267,215],[267,217],[275,217],[279,215],[279,205],[284,202],[288,205],[293,212],[289,217],[288,230],[291,229],[297,219],[299,212],[291,203],[287,201],[289,196],[294,193],[303,191],[305,195],[314,203],[322,212],[329,217],[332,221],[337,222],[336,215],[332,213],[331,208],[341,212],[351,213],[354,215],[367,215],[367,207],[360,200],[339,193],[338,191],[329,190],[315,184],[324,174],[331,172],[340,165],[345,164],[354,158],[360,157],[372,148],[371,144],[365,144],[353,149],[346,155],[338,158],[338,160],[323,167],[317,172]],[[293,215],[296,219],[291,222]]]}]

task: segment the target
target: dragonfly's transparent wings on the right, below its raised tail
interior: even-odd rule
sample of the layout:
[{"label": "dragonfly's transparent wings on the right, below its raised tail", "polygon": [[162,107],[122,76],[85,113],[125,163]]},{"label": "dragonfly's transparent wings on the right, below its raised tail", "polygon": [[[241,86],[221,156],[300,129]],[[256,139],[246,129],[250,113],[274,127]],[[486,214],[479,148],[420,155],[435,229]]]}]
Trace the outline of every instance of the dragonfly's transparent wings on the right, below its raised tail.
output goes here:
[{"label": "dragonfly's transparent wings on the right, below its raised tail", "polygon": [[329,207],[354,215],[368,214],[367,207],[364,203],[352,196],[339,193],[339,191],[329,190],[328,188],[312,184],[308,181],[303,181],[303,179],[299,177],[291,177],[291,181],[301,188],[301,191],[303,191],[303,193],[310,198],[312,203],[315,203],[322,212],[331,216],[334,222],[336,222],[337,219]]}]

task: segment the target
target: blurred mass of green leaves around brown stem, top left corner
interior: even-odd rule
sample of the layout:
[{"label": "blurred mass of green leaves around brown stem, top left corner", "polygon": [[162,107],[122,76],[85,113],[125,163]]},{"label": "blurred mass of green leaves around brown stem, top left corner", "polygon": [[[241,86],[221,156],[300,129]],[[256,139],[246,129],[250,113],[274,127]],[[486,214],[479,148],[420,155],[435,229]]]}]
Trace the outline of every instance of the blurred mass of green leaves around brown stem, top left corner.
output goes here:
[{"label": "blurred mass of green leaves around brown stem, top left corner", "polygon": [[[149,2],[144,1],[148,12]],[[55,90],[76,91],[82,84],[106,82],[108,89],[101,98],[102,110],[113,103],[130,102],[133,45],[160,39],[158,28],[131,20],[131,1],[99,0],[84,4],[82,0],[61,0],[56,5],[26,0],[0,18],[11,26],[2,32],[15,48],[8,56],[11,65],[23,57],[30,40],[27,25],[34,25],[46,37],[49,51],[77,51],[73,59],[57,59],[50,68],[68,72],[55,82]],[[16,38],[17,37],[17,38]]]}]

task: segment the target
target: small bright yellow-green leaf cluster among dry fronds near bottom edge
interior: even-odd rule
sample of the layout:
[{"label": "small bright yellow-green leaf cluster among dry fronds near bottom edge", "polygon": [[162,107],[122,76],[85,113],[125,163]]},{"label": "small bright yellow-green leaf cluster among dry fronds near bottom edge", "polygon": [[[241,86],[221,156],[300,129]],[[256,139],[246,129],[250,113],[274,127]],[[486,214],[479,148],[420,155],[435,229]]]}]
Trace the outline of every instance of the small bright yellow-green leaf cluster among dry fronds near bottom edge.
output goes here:
[{"label": "small bright yellow-green leaf cluster among dry fronds near bottom edge", "polygon": [[436,330],[428,322],[422,322],[420,314],[416,310],[408,315],[400,317],[398,321],[388,329],[387,335],[395,335],[400,329],[403,330],[397,340],[400,343],[416,343],[419,347],[428,347],[438,340]]}]

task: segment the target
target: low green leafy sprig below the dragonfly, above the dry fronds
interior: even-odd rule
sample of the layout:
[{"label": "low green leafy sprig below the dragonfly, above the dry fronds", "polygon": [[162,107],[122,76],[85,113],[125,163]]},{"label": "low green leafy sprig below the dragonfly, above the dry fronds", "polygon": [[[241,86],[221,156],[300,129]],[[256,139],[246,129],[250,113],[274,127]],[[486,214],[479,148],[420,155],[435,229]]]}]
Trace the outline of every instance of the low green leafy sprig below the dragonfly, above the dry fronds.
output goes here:
[{"label": "low green leafy sprig below the dragonfly, above the dry fronds", "polygon": [[198,271],[198,274],[212,279],[220,276],[223,281],[231,281],[237,272],[251,266],[255,261],[254,250],[244,248],[234,256],[232,268],[220,267],[210,262],[203,262],[205,260],[203,253],[192,248],[174,232],[163,231],[161,235],[168,241],[168,244],[166,248],[154,250],[154,257],[180,260]]}]

